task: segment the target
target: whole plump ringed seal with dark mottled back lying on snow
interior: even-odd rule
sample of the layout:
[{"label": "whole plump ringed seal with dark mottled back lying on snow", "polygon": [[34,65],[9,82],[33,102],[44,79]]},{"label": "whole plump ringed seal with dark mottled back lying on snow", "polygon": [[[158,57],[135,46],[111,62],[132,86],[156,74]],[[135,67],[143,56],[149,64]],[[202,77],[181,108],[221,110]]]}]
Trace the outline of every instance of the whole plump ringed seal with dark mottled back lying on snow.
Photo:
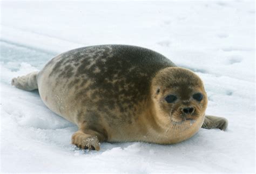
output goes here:
[{"label": "whole plump ringed seal with dark mottled back lying on snow", "polygon": [[225,118],[205,116],[201,79],[153,50],[127,45],[73,49],[39,72],[12,79],[38,89],[46,106],[78,131],[72,143],[99,150],[99,142],[178,143],[200,127],[225,130]]}]

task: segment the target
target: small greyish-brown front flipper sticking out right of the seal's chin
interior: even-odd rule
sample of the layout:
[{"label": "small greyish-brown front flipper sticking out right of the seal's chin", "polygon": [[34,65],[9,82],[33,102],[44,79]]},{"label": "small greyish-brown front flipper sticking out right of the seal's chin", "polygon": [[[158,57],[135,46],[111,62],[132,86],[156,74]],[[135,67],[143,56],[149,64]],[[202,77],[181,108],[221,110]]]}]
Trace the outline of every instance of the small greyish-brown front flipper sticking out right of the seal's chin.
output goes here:
[{"label": "small greyish-brown front flipper sticking out right of the seal's chin", "polygon": [[227,125],[228,125],[228,121],[223,117],[205,115],[205,120],[202,128],[205,128],[205,129],[219,128],[220,130],[225,131],[227,128]]}]

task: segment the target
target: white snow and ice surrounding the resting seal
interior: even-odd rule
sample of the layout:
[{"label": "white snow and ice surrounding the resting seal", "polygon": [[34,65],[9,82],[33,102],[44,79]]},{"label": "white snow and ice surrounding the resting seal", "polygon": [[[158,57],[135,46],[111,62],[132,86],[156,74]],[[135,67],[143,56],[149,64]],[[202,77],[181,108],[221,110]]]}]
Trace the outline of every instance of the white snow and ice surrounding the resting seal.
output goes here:
[{"label": "white snow and ice surrounding the resting seal", "polygon": [[[1,2],[1,172],[255,172],[254,1]],[[226,132],[200,129],[178,144],[70,144],[77,127],[51,112],[37,91],[11,78],[53,56],[99,44],[156,50],[195,71],[207,114]]]}]

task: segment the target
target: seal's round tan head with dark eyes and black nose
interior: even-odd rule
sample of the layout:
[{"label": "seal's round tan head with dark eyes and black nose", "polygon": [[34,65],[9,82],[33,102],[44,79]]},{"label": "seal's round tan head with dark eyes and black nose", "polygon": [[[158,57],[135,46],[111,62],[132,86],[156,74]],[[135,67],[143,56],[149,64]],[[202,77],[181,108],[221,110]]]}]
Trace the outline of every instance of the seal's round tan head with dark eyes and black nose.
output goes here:
[{"label": "seal's round tan head with dark eyes and black nose", "polygon": [[151,97],[155,117],[167,132],[172,132],[170,135],[177,135],[168,143],[193,136],[203,125],[207,95],[203,82],[191,70],[178,67],[160,70],[152,79]]}]

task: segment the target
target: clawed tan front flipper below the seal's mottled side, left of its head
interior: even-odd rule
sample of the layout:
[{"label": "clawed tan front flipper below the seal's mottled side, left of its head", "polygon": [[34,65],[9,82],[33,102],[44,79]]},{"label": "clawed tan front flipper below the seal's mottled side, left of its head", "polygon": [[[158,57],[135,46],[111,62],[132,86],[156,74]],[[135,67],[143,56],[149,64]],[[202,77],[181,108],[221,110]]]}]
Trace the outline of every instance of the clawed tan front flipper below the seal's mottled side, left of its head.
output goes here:
[{"label": "clawed tan front flipper below the seal's mottled side, left of its head", "polygon": [[100,142],[104,141],[100,133],[92,130],[79,130],[72,135],[71,140],[78,148],[89,150],[99,150]]}]

